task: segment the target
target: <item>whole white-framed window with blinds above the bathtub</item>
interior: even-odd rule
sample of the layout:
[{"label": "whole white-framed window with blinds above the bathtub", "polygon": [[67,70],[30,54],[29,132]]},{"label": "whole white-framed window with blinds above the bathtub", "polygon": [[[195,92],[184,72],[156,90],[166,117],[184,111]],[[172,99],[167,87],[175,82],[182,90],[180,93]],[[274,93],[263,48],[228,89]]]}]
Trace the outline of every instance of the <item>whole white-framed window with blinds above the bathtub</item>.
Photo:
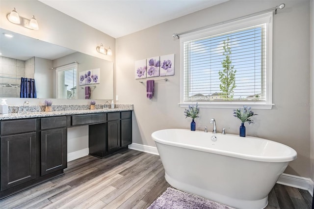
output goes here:
[{"label": "whole white-framed window with blinds above the bathtub", "polygon": [[272,13],[181,37],[181,105],[272,106]]}]

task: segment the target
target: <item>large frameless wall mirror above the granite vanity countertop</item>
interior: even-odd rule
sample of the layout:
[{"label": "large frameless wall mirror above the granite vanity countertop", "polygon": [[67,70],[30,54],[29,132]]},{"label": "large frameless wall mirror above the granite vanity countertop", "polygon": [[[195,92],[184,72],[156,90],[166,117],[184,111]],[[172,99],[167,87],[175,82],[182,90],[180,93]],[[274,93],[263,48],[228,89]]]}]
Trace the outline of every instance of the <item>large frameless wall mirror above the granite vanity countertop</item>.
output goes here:
[{"label": "large frameless wall mirror above the granite vanity countertop", "polygon": [[[10,37],[13,36],[13,37]],[[33,78],[37,98],[57,98],[56,69],[78,62],[77,81],[67,86],[67,99],[113,100],[113,63],[0,28],[0,97],[20,97],[21,78]],[[80,76],[97,72],[97,82]],[[77,97],[71,97],[76,91]],[[72,93],[71,93],[72,92]]]}]

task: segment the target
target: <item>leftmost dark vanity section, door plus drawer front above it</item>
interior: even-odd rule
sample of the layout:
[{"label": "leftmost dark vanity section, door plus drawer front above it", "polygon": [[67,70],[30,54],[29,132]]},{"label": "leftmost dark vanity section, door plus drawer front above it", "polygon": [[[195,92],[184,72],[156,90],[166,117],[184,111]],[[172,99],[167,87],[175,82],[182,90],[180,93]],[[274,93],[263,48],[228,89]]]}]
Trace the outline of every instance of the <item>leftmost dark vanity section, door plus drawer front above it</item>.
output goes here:
[{"label": "leftmost dark vanity section, door plus drawer front above it", "polygon": [[1,123],[1,191],[36,178],[36,119]]}]

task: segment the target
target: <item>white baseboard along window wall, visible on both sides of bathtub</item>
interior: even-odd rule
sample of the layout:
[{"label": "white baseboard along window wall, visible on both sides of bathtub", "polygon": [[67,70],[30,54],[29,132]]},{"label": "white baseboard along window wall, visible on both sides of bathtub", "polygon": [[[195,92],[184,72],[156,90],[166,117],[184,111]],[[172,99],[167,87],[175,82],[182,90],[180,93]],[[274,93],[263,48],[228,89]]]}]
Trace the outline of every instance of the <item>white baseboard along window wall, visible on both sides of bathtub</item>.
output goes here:
[{"label": "white baseboard along window wall, visible on both sides of bathtub", "polygon": [[[154,155],[159,155],[156,147],[151,147],[147,145],[132,143],[131,145],[129,145],[129,149],[138,150],[145,153],[151,153]],[[299,176],[294,176],[294,175],[283,173],[280,176],[277,183],[299,188],[299,189],[305,189],[309,191],[310,194],[313,196],[314,183],[309,178],[304,178],[304,177],[299,177]]]}]

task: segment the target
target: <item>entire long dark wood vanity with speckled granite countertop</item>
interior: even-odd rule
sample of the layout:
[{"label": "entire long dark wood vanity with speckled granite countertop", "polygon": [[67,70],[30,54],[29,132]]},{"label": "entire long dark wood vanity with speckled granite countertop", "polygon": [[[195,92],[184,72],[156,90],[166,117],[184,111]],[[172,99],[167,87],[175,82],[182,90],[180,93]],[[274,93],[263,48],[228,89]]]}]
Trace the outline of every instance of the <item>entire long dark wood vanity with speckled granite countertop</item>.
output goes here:
[{"label": "entire long dark wood vanity with speckled granite countertop", "polygon": [[0,199],[63,175],[67,128],[89,126],[89,155],[95,157],[104,158],[132,143],[130,109],[15,114],[0,119]]}]

